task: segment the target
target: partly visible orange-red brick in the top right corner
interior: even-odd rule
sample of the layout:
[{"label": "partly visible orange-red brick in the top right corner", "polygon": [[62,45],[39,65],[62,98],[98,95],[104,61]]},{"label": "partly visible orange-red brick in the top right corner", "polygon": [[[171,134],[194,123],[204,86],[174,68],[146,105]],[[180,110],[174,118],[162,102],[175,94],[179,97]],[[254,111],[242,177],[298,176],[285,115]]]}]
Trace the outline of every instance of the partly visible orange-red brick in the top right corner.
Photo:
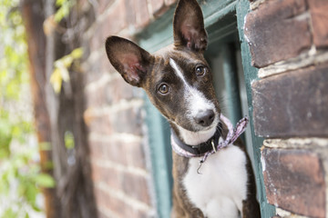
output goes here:
[{"label": "partly visible orange-red brick in the top right corner", "polygon": [[328,2],[308,0],[313,21],[313,42],[318,48],[328,47]]}]

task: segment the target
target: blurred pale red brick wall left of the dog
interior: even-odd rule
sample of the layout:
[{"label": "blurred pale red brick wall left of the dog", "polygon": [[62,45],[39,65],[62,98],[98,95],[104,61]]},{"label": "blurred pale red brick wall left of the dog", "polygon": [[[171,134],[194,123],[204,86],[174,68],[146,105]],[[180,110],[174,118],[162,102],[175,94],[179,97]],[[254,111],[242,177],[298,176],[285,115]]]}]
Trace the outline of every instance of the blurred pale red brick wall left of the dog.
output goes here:
[{"label": "blurred pale red brick wall left of the dog", "polygon": [[[99,217],[153,217],[156,213],[149,166],[143,94],[126,84],[109,64],[109,35],[133,39],[175,0],[99,0],[78,2],[94,10],[84,34],[85,95],[90,162]],[[92,5],[90,3],[93,3]]]}]

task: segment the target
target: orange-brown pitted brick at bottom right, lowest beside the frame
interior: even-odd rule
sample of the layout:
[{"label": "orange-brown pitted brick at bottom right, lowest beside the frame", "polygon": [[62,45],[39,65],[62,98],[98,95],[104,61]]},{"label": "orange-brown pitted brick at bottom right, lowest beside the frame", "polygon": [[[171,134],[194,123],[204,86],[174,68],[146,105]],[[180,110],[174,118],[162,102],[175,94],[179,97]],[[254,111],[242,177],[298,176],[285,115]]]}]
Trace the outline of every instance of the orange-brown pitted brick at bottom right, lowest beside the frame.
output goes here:
[{"label": "orange-brown pitted brick at bottom right, lowest beside the frame", "polygon": [[264,148],[261,159],[269,203],[293,213],[325,216],[323,163],[317,154]]}]

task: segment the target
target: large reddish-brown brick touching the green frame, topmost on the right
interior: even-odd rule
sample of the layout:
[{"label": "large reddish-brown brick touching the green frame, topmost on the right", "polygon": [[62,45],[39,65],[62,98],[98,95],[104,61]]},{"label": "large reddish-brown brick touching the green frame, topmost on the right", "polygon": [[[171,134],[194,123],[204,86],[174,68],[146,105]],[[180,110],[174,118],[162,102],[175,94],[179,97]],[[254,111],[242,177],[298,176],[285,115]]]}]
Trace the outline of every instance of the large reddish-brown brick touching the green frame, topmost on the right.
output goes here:
[{"label": "large reddish-brown brick touching the green frame, topmost on the right", "polygon": [[312,35],[305,0],[272,0],[246,16],[244,34],[250,45],[251,64],[263,67],[308,50]]}]

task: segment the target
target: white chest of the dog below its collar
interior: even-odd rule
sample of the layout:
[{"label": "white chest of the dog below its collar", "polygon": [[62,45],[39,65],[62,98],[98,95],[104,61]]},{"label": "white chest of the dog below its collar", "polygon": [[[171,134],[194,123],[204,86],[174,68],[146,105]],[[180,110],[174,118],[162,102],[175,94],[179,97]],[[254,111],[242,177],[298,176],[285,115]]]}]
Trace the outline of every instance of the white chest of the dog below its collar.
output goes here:
[{"label": "white chest of the dog below its collar", "polygon": [[246,156],[229,145],[208,157],[200,168],[200,158],[191,158],[183,184],[190,202],[208,218],[238,218],[247,195]]}]

